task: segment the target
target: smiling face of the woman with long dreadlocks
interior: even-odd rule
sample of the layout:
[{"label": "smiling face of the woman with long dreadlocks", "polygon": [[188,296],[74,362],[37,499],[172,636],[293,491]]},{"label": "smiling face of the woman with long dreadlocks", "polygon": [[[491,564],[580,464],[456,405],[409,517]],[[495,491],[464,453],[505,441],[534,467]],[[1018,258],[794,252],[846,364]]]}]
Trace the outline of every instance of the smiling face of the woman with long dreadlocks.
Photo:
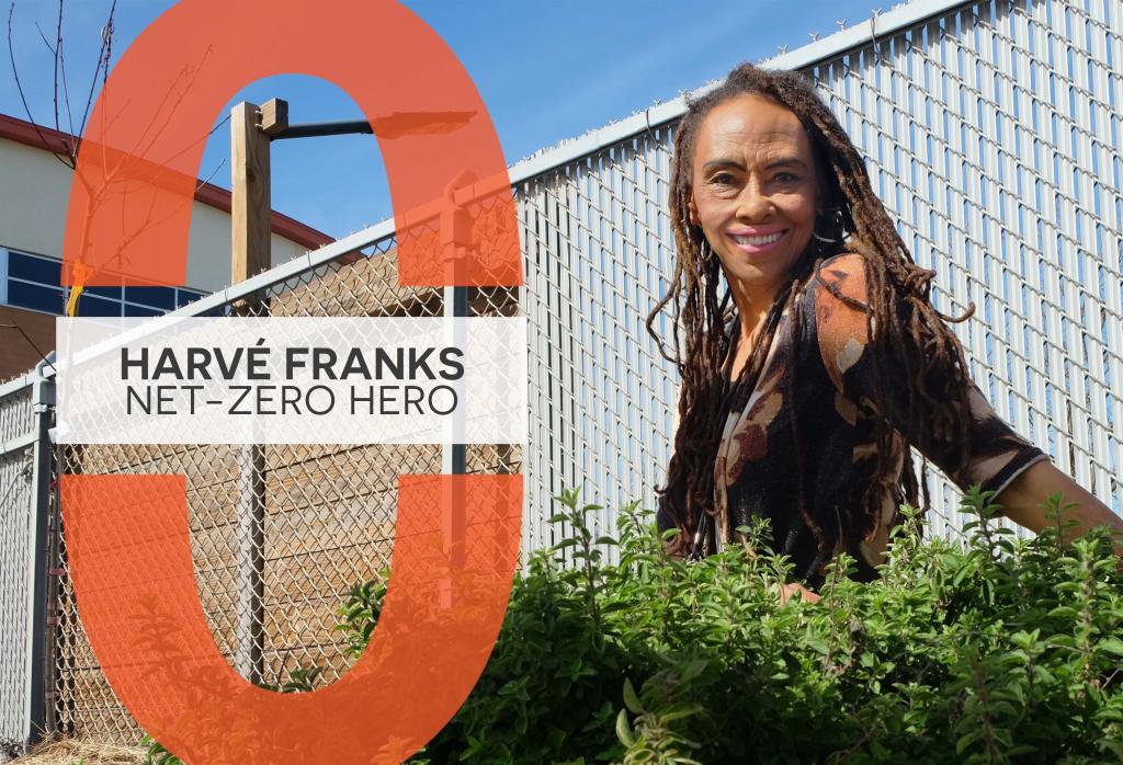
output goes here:
[{"label": "smiling face of the woman with long dreadlocks", "polygon": [[713,109],[694,141],[691,222],[748,295],[786,283],[811,240],[819,199],[811,140],[788,109],[740,95]]}]

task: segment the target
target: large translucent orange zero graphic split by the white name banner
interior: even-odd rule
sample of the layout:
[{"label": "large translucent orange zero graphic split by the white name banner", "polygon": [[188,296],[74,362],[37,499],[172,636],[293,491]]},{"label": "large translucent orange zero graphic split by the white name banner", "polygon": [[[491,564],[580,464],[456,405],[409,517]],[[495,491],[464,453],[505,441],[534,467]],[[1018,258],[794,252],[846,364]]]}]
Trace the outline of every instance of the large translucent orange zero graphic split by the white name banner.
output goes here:
[{"label": "large translucent orange zero graphic split by the white name banner", "polygon": [[[455,284],[521,284],[505,160],[478,93],[424,22],[372,0],[193,0],[148,27],[113,68],[83,136],[64,284],[182,285],[214,116],[243,85],[286,73],[343,87],[372,123],[474,112],[455,130],[378,139],[400,279],[454,283],[439,231],[410,211],[447,196],[454,178],[501,178],[485,202],[456,211],[468,255]],[[391,583],[369,647],[335,684],[280,694],[243,680],[211,636],[184,476],[66,474],[61,491],[79,612],[98,662],[140,726],[192,765],[405,759],[478,680],[518,561],[520,476],[400,476]],[[463,516],[456,554],[442,525],[451,505]]]}]

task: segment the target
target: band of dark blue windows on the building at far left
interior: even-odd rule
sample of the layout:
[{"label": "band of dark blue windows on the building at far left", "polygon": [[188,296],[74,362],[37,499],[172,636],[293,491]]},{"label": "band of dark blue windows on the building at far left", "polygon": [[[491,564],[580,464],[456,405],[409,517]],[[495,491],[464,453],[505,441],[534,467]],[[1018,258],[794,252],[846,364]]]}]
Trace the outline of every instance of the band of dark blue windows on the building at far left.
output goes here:
[{"label": "band of dark blue windows on the building at far left", "polygon": [[[62,262],[54,258],[0,248],[0,305],[62,315],[66,289],[60,286]],[[158,316],[207,293],[180,287],[86,287],[79,316]]]}]

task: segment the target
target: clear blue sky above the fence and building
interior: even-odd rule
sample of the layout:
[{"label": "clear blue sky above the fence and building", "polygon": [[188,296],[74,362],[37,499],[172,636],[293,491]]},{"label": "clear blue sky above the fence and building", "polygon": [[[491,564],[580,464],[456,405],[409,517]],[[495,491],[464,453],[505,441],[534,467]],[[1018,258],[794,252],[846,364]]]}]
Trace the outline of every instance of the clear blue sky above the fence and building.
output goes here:
[{"label": "clear blue sky above the fence and building", "polygon": [[[119,0],[113,59],[172,4]],[[474,79],[510,164],[697,87],[739,62],[767,58],[780,45],[794,49],[809,43],[811,33],[829,35],[843,18],[858,24],[877,8],[871,0],[407,0],[404,4],[440,34]],[[109,6],[109,0],[66,2],[63,35],[72,91],[89,87]],[[16,65],[33,114],[47,125],[54,123],[52,58],[36,25],[53,39],[56,13],[54,0],[17,0],[12,17]],[[377,30],[372,30],[371,45],[377,44]],[[293,123],[362,119],[343,91],[300,75],[248,84],[231,105],[270,98],[289,101]],[[0,62],[0,112],[26,118],[7,61]],[[218,131],[200,168],[201,177],[225,187],[230,176],[228,145],[225,129]],[[280,141],[273,146],[272,162],[274,209],[329,234],[347,234],[391,213],[377,144],[371,136]]]}]

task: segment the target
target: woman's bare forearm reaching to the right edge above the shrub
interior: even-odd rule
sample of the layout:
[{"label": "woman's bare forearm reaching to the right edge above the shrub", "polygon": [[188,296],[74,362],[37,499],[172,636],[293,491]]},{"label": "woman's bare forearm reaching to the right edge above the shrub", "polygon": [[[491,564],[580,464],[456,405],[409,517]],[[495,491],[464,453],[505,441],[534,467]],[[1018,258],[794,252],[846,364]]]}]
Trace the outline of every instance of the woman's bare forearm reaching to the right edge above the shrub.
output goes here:
[{"label": "woman's bare forearm reaching to the right edge above the shrub", "polygon": [[1046,498],[1054,494],[1065,495],[1062,504],[1076,503],[1075,507],[1069,508],[1061,516],[1061,522],[1066,519],[1077,522],[1076,526],[1072,527],[1074,536],[1083,536],[1093,526],[1110,526],[1115,540],[1115,552],[1123,555],[1123,518],[1112,513],[1111,508],[1061,472],[1049,460],[1034,462],[1023,470],[994,498],[994,501],[1002,505],[1003,514],[1007,518],[1037,534],[1052,524],[1046,517],[1044,508],[1041,506]]}]

